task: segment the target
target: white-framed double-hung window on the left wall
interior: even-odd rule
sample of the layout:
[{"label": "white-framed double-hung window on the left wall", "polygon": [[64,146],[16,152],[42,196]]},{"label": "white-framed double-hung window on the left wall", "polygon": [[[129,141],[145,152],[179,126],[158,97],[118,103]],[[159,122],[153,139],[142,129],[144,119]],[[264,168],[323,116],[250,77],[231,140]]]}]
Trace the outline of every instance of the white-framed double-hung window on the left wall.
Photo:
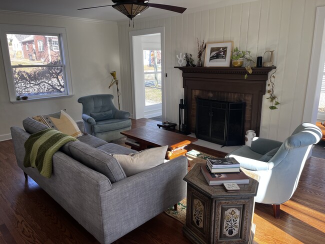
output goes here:
[{"label": "white-framed double-hung window on the left wall", "polygon": [[[1,45],[11,102],[16,96],[29,100],[72,94],[65,28],[0,24],[1,43],[12,35],[26,48],[12,55],[8,45]],[[50,50],[46,47],[53,39],[56,48]]]}]

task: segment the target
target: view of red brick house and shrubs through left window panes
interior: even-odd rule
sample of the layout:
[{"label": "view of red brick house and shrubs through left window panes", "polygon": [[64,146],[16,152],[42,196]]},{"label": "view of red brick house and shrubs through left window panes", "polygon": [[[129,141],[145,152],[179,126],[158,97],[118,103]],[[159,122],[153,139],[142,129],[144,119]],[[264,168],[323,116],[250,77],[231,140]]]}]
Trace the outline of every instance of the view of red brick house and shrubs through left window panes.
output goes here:
[{"label": "view of red brick house and shrubs through left window panes", "polygon": [[7,33],[6,37],[17,96],[65,92],[59,35]]}]

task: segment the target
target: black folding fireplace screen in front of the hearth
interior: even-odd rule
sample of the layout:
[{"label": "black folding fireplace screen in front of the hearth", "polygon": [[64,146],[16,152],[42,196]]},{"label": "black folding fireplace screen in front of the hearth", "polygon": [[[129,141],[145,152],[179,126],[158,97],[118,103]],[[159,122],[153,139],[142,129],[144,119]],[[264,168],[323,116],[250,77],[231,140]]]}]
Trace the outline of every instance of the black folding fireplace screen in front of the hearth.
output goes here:
[{"label": "black folding fireplace screen in front of the hearth", "polygon": [[220,145],[242,145],[244,102],[196,99],[195,134]]}]

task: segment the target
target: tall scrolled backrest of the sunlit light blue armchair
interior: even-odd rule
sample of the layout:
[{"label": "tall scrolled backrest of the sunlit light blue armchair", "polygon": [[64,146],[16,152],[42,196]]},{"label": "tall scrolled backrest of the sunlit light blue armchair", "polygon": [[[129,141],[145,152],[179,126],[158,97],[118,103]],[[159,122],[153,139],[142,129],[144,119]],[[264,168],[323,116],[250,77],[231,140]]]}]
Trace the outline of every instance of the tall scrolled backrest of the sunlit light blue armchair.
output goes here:
[{"label": "tall scrolled backrest of the sunlit light blue armchair", "polygon": [[317,143],[321,136],[321,130],[316,125],[300,124],[268,161],[273,167],[258,172],[258,190],[263,194],[258,194],[256,201],[280,204],[290,199],[297,187],[311,146]]}]

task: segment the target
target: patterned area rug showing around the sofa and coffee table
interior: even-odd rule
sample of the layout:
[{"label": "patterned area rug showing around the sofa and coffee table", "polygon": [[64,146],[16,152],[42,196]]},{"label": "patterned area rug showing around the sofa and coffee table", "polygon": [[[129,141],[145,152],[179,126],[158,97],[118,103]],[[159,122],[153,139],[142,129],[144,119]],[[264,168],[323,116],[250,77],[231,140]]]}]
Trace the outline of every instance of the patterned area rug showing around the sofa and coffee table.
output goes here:
[{"label": "patterned area rug showing around the sofa and coffee table", "polygon": [[[125,145],[125,143],[124,143],[125,140],[126,140],[126,137],[122,137],[120,139],[111,141],[111,143],[115,143],[115,144],[130,148],[130,146]],[[190,170],[195,163],[205,162],[206,157],[209,157],[209,156],[211,156],[211,155],[199,152],[197,150],[188,151],[186,153],[186,157],[187,157],[187,159],[189,161],[189,165],[190,165],[188,167],[188,170]],[[167,215],[169,215],[169,216],[177,219],[181,223],[185,224],[185,221],[186,221],[186,198],[184,198],[180,202],[178,202],[177,205],[178,205],[177,210],[174,210],[174,206],[170,206],[164,212]]]}]

